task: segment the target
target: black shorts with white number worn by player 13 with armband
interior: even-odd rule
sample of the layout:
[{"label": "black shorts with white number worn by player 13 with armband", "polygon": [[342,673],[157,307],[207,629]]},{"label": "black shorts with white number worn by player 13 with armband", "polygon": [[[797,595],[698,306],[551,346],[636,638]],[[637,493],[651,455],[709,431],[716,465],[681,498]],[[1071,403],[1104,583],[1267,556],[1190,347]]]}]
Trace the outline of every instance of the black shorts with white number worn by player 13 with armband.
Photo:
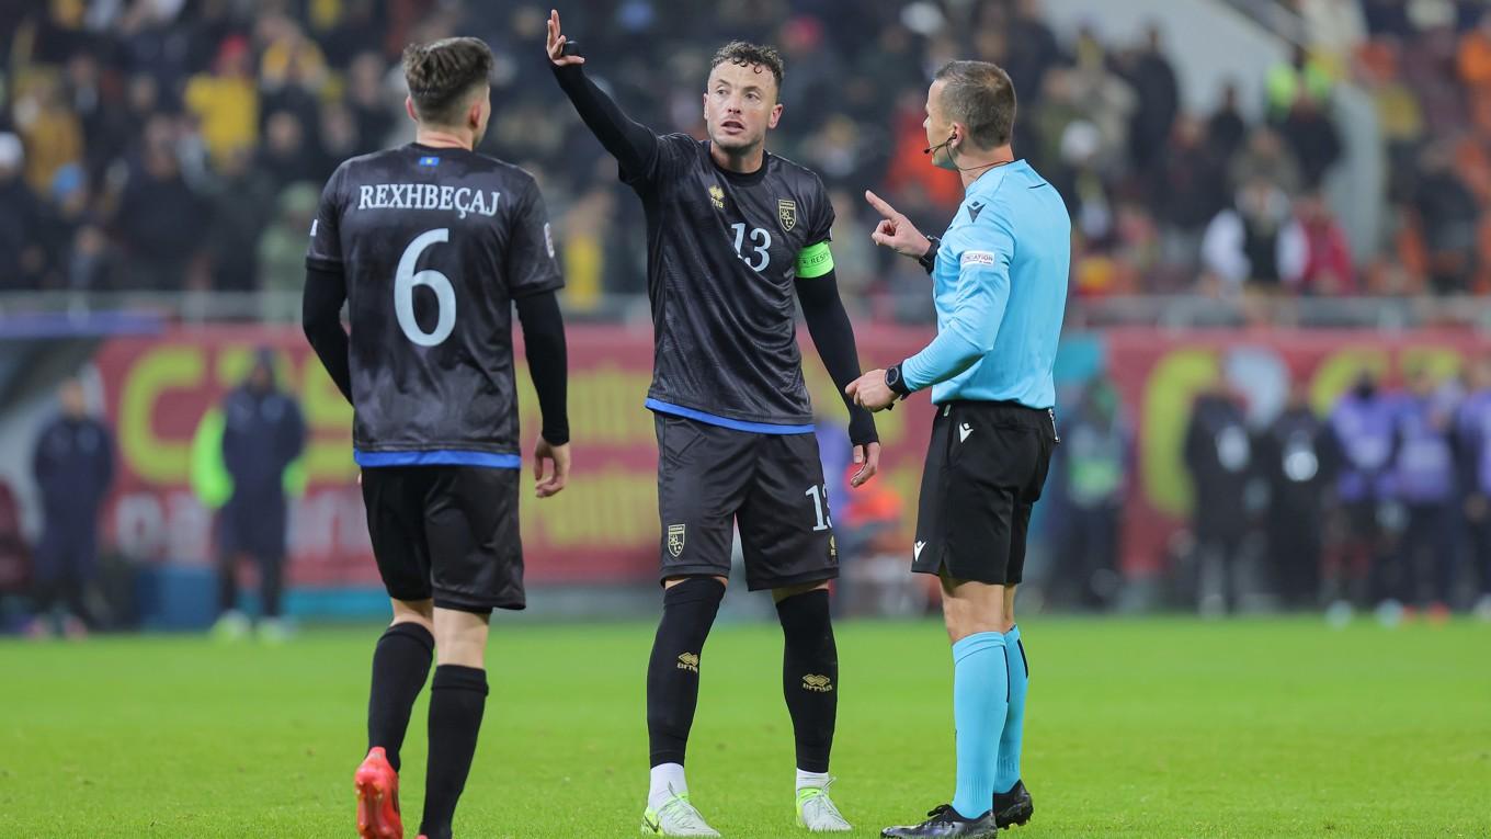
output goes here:
[{"label": "black shorts with white number worn by player 13 with armband", "polygon": [[819,442],[658,414],[662,579],[729,576],[740,523],[751,591],[838,576]]}]

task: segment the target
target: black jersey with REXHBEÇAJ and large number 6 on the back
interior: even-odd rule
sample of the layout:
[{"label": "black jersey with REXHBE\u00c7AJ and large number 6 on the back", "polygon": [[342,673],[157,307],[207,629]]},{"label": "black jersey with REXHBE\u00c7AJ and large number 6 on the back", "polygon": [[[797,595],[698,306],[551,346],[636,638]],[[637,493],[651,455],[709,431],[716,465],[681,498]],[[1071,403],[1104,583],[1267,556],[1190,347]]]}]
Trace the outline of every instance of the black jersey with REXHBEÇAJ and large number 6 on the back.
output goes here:
[{"label": "black jersey with REXHBE\u00c7AJ and large number 6 on the back", "polygon": [[417,143],[352,158],[306,263],[346,276],[358,463],[517,466],[513,299],[564,285],[532,176]]}]

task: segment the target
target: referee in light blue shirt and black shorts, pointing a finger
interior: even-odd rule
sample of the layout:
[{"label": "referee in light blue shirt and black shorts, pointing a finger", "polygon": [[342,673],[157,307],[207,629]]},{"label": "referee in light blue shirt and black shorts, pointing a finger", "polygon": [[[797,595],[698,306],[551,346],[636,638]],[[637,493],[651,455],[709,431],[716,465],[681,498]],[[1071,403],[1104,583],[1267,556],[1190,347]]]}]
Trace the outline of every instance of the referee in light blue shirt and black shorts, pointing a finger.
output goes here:
[{"label": "referee in light blue shirt and black shorts, pointing a finger", "polygon": [[994,64],[953,61],[927,91],[927,154],[963,181],[942,239],[866,193],[884,216],[874,240],[932,273],[938,334],[921,352],[848,385],[890,408],[932,388],[936,420],[921,476],[912,570],[942,581],[953,642],[957,788],[951,805],[883,836],[993,836],[1033,806],[1020,782],[1027,669],[1015,585],[1030,509],[1056,436],[1056,363],[1071,218],[1057,191],[1015,160],[1015,90]]}]

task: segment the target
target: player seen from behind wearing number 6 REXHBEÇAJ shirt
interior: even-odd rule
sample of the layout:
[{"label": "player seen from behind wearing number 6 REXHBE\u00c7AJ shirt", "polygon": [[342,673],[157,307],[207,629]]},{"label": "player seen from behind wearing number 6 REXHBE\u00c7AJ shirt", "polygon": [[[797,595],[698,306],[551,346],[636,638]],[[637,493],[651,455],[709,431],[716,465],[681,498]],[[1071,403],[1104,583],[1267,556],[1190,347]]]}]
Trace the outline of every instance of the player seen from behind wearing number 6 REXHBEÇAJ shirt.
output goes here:
[{"label": "player seen from behind wearing number 6 REXHBE\u00c7AJ shirt", "polygon": [[514,303],[543,414],[538,497],[570,473],[564,279],[543,197],[522,169],[473,152],[491,70],[473,37],[404,51],[416,139],[337,169],[306,257],[306,336],[356,409],[353,455],[394,605],[355,776],[364,838],[403,836],[398,752],[434,654],[419,833],[449,839],[486,705],[488,620],[525,605]]}]

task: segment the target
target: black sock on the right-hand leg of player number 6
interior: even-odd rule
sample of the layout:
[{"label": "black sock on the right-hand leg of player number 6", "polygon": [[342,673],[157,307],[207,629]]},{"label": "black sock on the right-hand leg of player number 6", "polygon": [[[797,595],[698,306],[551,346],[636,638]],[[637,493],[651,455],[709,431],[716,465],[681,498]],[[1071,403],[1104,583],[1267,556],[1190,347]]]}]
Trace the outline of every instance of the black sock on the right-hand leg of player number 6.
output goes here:
[{"label": "black sock on the right-hand leg of player number 6", "polygon": [[486,708],[486,670],[440,664],[429,685],[429,766],[425,773],[425,818],[419,832],[449,839],[456,802],[471,773],[476,737]]}]

